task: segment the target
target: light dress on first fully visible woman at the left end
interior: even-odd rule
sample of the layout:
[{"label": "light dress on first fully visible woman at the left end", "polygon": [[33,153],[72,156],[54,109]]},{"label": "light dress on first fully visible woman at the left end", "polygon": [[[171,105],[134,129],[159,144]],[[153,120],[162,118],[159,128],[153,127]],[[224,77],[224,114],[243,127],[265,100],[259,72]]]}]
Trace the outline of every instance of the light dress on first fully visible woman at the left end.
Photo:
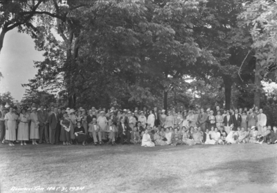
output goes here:
[{"label": "light dress on first fully visible woman at the left end", "polygon": [[17,129],[17,114],[8,112],[5,115],[5,120],[8,120],[8,130],[6,130],[6,140],[15,141],[17,140],[16,129]]}]

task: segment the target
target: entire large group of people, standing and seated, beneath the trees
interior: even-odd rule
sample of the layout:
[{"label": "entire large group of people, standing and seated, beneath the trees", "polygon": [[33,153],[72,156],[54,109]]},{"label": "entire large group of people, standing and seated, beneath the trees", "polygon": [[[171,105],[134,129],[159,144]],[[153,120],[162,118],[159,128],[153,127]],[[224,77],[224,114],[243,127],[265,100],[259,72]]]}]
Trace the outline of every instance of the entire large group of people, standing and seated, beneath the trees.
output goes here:
[{"label": "entire large group of people, standing and seated, beneath the trees", "polygon": [[277,128],[267,125],[262,108],[234,110],[118,110],[112,107],[85,110],[0,105],[0,140],[15,143],[51,145],[139,144],[225,145],[234,143],[277,143]]}]

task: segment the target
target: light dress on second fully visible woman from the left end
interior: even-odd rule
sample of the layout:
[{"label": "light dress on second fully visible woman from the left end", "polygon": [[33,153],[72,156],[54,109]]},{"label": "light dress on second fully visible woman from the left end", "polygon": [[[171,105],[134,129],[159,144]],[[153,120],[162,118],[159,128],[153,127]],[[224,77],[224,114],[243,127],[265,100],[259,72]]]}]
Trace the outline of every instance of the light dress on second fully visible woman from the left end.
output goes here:
[{"label": "light dress on second fully visible woman from the left end", "polygon": [[19,116],[19,125],[17,132],[17,140],[28,141],[29,140],[29,115],[20,114]]}]

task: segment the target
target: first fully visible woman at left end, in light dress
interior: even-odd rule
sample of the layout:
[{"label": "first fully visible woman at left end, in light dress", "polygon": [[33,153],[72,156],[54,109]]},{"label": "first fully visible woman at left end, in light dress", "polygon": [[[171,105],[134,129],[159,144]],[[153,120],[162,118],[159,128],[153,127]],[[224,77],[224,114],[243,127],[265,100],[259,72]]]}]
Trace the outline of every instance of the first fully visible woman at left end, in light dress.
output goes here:
[{"label": "first fully visible woman at left end, in light dress", "polygon": [[8,112],[5,115],[5,121],[6,121],[6,140],[9,141],[9,145],[15,145],[12,143],[12,141],[15,141],[17,139],[16,136],[16,129],[17,129],[17,115],[13,111],[13,108],[9,108],[10,112]]}]

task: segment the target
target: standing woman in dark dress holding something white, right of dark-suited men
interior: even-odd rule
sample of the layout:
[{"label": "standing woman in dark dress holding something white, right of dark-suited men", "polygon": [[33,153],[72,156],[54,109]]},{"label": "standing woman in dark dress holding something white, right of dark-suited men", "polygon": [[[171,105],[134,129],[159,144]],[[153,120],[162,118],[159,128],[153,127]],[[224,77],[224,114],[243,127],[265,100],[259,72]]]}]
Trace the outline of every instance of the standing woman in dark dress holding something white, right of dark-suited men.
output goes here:
[{"label": "standing woman in dark dress holding something white, right of dark-suited men", "polygon": [[67,112],[62,114],[62,119],[60,120],[60,125],[62,126],[60,132],[60,141],[62,141],[63,145],[71,145],[70,143],[70,119]]}]

